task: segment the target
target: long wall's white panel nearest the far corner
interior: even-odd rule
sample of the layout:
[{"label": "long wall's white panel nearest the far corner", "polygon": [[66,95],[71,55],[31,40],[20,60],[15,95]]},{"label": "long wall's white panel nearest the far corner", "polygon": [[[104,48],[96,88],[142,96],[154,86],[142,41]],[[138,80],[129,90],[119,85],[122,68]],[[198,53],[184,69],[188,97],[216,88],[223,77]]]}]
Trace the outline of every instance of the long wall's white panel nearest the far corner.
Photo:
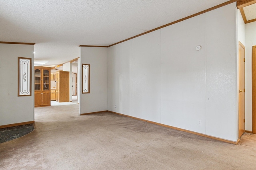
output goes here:
[{"label": "long wall's white panel nearest the far corner", "polygon": [[108,110],[132,115],[132,40],[108,48]]}]

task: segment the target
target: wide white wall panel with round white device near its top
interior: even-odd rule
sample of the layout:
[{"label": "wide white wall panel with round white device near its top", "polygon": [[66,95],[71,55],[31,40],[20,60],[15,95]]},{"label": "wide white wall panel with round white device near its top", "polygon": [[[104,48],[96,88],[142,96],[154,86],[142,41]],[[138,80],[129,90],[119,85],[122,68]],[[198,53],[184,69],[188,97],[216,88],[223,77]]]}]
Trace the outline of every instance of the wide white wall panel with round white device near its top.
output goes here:
[{"label": "wide white wall panel with round white device near its top", "polygon": [[[206,14],[161,30],[161,123],[206,132]],[[196,46],[202,46],[196,51]],[[201,125],[198,125],[201,121]]]}]

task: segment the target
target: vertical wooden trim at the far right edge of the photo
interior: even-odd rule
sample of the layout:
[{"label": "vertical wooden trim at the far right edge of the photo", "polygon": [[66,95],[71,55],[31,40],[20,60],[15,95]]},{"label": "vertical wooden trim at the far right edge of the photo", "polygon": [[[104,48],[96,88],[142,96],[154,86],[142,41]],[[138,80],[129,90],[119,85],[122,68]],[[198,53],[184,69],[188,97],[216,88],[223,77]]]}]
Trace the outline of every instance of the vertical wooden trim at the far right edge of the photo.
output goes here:
[{"label": "vertical wooden trim at the far right edge of the photo", "polygon": [[256,46],[252,46],[252,133],[256,134]]}]

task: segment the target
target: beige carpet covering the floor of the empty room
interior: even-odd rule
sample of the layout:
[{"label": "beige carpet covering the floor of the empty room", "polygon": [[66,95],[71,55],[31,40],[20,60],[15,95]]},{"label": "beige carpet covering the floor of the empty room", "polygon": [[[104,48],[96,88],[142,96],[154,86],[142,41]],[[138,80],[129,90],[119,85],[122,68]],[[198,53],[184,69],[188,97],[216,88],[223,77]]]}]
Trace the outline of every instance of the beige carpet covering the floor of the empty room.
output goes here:
[{"label": "beige carpet covering the floor of the empty room", "polygon": [[[239,145],[78,105],[35,108],[35,130],[0,144],[1,170],[255,170],[256,135]],[[243,139],[244,138],[244,139]]]}]

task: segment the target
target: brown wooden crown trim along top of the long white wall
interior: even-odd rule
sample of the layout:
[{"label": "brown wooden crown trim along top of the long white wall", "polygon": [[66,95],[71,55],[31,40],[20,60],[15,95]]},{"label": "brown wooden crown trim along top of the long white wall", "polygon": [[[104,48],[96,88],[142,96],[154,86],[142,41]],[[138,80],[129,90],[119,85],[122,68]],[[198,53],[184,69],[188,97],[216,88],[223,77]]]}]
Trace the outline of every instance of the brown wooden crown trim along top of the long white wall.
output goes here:
[{"label": "brown wooden crown trim along top of the long white wall", "polygon": [[180,20],[173,21],[173,22],[171,22],[171,23],[168,23],[168,24],[162,25],[162,26],[157,27],[157,28],[155,28],[155,29],[151,29],[150,31],[146,31],[146,32],[141,33],[141,34],[139,34],[139,35],[135,35],[135,36],[133,36],[133,37],[130,37],[130,38],[125,39],[125,40],[123,40],[123,41],[119,41],[119,42],[114,43],[114,44],[112,44],[112,45],[109,45],[109,46],[107,46],[107,47],[111,47],[111,46],[113,46],[113,45],[123,43],[124,41],[128,41],[128,40],[130,40],[130,39],[134,39],[134,38],[139,37],[139,36],[141,36],[141,35],[145,35],[145,34],[150,33],[150,32],[152,32],[152,31],[156,31],[156,30],[158,30],[158,29],[161,29],[161,28],[167,27],[167,26],[169,26],[169,25],[173,25],[174,23],[178,23],[178,22],[180,22],[180,21],[184,21],[184,20],[187,20],[187,19],[189,19],[189,18],[192,18],[192,17],[198,16],[198,15],[200,15],[200,14],[204,14],[204,13],[206,13],[206,12],[209,12],[209,11],[215,10],[215,9],[220,8],[220,7],[222,7],[222,6],[226,6],[226,5],[231,4],[231,3],[233,3],[233,2],[236,2],[236,1],[237,1],[237,0],[230,0],[230,1],[228,1],[228,2],[224,2],[223,4],[220,4],[220,5],[214,6],[214,7],[212,7],[212,8],[209,8],[209,9],[207,9],[207,10],[204,10],[204,11],[198,12],[198,13],[193,14],[193,15],[191,15],[191,16],[187,16],[187,17],[182,18],[182,19],[180,19]]}]

